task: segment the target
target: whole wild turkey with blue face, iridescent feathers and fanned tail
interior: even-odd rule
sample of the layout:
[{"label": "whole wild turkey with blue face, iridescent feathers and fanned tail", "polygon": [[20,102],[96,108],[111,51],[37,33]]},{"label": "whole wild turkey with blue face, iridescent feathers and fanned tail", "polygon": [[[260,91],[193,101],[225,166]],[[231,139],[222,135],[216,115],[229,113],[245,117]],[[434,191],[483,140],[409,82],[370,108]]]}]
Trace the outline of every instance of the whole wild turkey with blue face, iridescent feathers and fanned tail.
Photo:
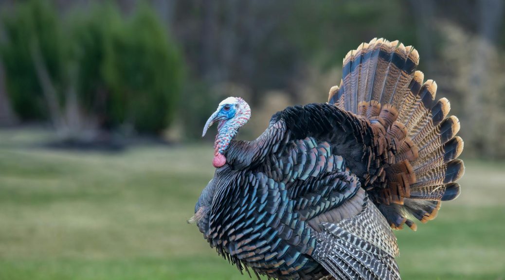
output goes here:
[{"label": "whole wild turkey with blue face, iridescent feathers and fanned tail", "polygon": [[215,176],[191,218],[211,247],[269,278],[399,279],[391,228],[435,218],[464,173],[458,118],[418,62],[398,41],[363,43],[327,103],[287,107],[250,142],[235,140],[249,106],[223,100],[204,129],[219,122]]}]

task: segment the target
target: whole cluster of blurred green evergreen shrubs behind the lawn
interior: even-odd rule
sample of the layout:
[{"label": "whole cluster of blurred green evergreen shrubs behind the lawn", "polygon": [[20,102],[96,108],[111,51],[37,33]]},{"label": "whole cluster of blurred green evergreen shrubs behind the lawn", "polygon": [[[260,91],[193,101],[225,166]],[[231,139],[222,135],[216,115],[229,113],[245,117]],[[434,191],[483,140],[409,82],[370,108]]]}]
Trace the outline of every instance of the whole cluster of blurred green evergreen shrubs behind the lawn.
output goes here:
[{"label": "whole cluster of blurred green evergreen shrubs behind the lawn", "polygon": [[112,3],[95,3],[88,12],[59,16],[54,5],[31,0],[5,13],[4,27],[6,84],[21,120],[47,120],[47,111],[55,109],[36,70],[37,49],[58,96],[56,109],[66,111],[75,91],[81,118],[94,118],[103,129],[130,124],[138,132],[159,133],[172,121],[182,57],[149,6],[126,17]]}]

